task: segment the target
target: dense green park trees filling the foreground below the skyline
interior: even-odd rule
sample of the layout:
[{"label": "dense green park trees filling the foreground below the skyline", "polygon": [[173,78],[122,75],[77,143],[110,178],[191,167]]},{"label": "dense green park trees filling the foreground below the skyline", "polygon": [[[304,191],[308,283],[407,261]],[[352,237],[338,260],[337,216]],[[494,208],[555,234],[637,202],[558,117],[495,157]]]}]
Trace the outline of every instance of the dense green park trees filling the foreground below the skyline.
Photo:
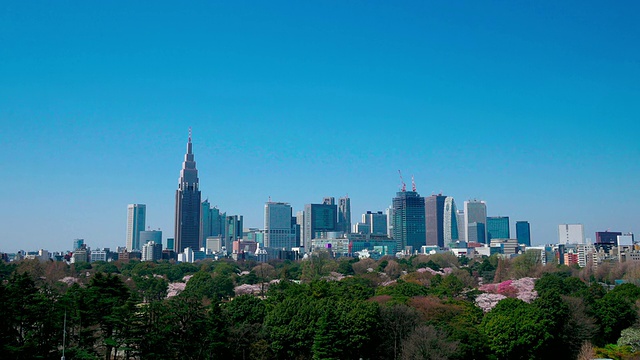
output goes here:
[{"label": "dense green park trees filling the foreground below the skyline", "polygon": [[[639,274],[527,255],[1,263],[0,357],[640,359]],[[524,277],[536,296],[477,304]]]}]

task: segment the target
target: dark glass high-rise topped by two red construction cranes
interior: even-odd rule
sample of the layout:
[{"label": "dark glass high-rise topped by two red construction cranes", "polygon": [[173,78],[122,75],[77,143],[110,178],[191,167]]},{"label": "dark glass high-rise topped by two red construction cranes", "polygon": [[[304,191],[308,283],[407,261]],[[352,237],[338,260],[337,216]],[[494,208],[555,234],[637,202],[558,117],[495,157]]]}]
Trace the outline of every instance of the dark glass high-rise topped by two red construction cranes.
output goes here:
[{"label": "dark glass high-rise topped by two red construction cranes", "polygon": [[415,191],[399,191],[393,198],[392,234],[396,251],[411,246],[413,252],[427,245],[424,198]]}]

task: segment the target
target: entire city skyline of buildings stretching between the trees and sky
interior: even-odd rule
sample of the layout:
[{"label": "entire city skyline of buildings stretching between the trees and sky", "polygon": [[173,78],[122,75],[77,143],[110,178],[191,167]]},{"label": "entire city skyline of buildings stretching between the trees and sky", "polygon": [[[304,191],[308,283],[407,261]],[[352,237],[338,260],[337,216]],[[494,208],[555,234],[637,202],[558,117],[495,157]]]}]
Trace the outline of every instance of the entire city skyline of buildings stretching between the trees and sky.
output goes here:
[{"label": "entire city skyline of buildings stretching between the trees and sky", "polygon": [[[264,227],[244,227],[243,215],[227,215],[208,199],[202,201],[192,131],[180,170],[175,194],[175,231],[163,237],[161,230],[146,227],[146,205],[127,205],[125,246],[91,249],[84,239],[74,239],[67,252],[47,249],[2,253],[5,261],[25,258],[75,262],[115,260],[300,260],[314,251],[331,257],[380,259],[384,256],[410,257],[417,254],[451,252],[461,257],[500,254],[517,256],[536,252],[542,264],[585,267],[603,261],[640,261],[640,249],[633,233],[609,229],[587,238],[583,224],[559,224],[558,241],[532,246],[531,224],[515,222],[508,216],[488,216],[484,200],[466,200],[458,209],[451,196],[422,197],[411,178],[411,190],[398,170],[400,189],[391,205],[373,209],[352,224],[351,199],[327,196],[294,213],[286,202],[271,199],[264,204]],[[513,236],[515,235],[515,236]]]}]

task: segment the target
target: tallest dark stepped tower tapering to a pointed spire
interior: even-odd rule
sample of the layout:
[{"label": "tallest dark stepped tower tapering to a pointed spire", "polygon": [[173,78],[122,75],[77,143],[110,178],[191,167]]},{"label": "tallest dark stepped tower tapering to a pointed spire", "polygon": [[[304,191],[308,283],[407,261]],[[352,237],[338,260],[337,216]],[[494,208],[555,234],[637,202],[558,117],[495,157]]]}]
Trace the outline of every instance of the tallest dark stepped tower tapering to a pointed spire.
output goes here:
[{"label": "tallest dark stepped tower tapering to a pointed spire", "polygon": [[181,253],[185,248],[200,249],[200,189],[198,170],[193,157],[191,128],[187,153],[184,156],[178,190],[176,190],[176,226],[175,251]]}]

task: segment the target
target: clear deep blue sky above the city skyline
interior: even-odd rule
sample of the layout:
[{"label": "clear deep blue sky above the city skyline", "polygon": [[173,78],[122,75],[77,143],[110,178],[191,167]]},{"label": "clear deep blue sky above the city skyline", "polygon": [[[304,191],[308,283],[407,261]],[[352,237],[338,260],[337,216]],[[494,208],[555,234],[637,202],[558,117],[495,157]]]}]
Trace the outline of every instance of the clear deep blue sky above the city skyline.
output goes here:
[{"label": "clear deep blue sky above the city skyline", "polygon": [[489,216],[640,231],[636,1],[0,3],[0,251],[173,237],[189,127],[202,198],[245,227],[398,170]]}]

